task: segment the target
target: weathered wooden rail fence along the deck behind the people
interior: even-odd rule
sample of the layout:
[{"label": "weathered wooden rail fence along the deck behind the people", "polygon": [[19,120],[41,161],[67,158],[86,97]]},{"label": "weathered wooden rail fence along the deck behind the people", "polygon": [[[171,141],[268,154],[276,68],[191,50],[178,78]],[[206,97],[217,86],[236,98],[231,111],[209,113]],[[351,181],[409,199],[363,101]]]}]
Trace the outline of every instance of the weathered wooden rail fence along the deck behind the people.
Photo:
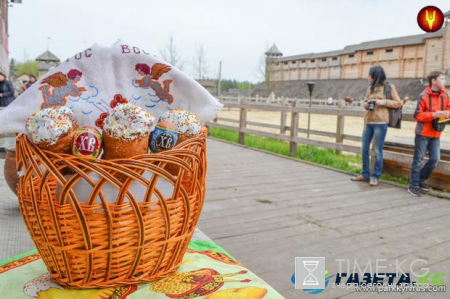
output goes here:
[{"label": "weathered wooden rail fence along the deck behind the people", "polygon": [[[358,101],[359,102],[359,101]],[[238,142],[244,144],[245,135],[251,134],[261,137],[270,137],[283,140],[289,143],[289,153],[293,155],[297,151],[298,144],[313,145],[323,148],[336,150],[336,152],[360,153],[361,146],[345,144],[345,140],[361,142],[361,136],[345,134],[345,117],[364,117],[365,111],[359,107],[359,103],[353,103],[351,106],[343,100],[338,101],[337,106],[331,105],[314,105],[309,107],[309,100],[283,99],[281,103],[270,103],[268,101],[252,101],[248,98],[239,98],[238,101],[222,100],[224,109],[235,108],[239,110],[239,118],[215,118],[208,123],[210,127],[222,128],[238,132]],[[414,105],[406,105],[404,107],[403,122],[415,122],[412,109]],[[268,124],[256,122],[247,119],[249,110],[275,111],[280,112],[280,124]],[[298,133],[306,133],[307,129],[299,128],[299,114],[310,113],[315,115],[335,115],[337,116],[336,131],[323,132],[318,130],[310,130],[311,135],[325,136],[333,138],[334,142],[315,140],[312,138],[299,137]],[[290,114],[290,124],[286,122],[287,114]],[[223,122],[237,124],[237,126],[223,124]],[[263,130],[249,129],[247,126],[257,126],[262,128],[277,129],[279,133],[271,133]],[[384,146],[384,172],[388,172],[397,176],[409,177],[410,166],[412,162],[412,153],[414,146],[399,142],[385,142]],[[372,156],[374,153],[372,151]],[[430,184],[440,189],[449,189],[450,185],[450,150],[441,150],[441,163],[433,173]]]}]

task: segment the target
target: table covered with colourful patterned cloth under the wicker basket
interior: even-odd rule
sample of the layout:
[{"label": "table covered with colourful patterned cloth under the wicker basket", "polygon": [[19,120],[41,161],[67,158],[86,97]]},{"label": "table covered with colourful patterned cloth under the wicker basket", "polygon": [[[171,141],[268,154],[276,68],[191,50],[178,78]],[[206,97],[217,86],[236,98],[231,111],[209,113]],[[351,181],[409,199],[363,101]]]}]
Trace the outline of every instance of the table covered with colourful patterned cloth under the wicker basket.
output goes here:
[{"label": "table covered with colourful patterned cloth under the wicker basket", "polygon": [[178,271],[139,286],[77,290],[63,288],[50,275],[37,250],[0,262],[0,294],[21,298],[283,298],[228,252],[197,231]]}]

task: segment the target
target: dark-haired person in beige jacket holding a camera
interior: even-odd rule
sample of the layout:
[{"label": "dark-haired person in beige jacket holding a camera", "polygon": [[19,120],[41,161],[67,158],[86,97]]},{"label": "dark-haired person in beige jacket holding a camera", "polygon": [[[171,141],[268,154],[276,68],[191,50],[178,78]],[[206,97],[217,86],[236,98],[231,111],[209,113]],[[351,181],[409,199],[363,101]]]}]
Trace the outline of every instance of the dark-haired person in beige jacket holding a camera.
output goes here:
[{"label": "dark-haired person in beige jacket holding a camera", "polygon": [[[370,186],[377,186],[383,169],[383,146],[386,138],[389,109],[400,108],[402,102],[394,85],[386,81],[386,74],[381,66],[374,66],[369,70],[369,86],[364,100],[364,130],[362,136],[362,173],[352,177],[352,181],[369,182]],[[389,92],[390,90],[390,92]],[[390,94],[387,95],[386,92]],[[389,99],[387,99],[389,98]],[[375,165],[370,169],[370,143],[374,142]]]}]

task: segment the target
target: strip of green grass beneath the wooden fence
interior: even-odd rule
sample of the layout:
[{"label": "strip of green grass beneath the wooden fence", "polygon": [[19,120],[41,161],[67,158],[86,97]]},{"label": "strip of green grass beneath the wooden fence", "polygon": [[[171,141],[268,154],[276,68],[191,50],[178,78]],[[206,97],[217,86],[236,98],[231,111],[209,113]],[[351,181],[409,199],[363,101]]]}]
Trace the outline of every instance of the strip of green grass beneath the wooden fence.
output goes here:
[{"label": "strip of green grass beneath the wooden fence", "polygon": [[[209,134],[218,139],[238,143],[238,133],[236,131],[210,127]],[[289,156],[289,143],[286,141],[245,134],[244,143],[248,147]],[[332,149],[298,145],[297,152],[292,157],[355,174],[361,173],[361,155],[337,154]],[[381,179],[403,185],[408,185],[409,183],[408,179],[393,177],[388,174],[383,174]]]}]

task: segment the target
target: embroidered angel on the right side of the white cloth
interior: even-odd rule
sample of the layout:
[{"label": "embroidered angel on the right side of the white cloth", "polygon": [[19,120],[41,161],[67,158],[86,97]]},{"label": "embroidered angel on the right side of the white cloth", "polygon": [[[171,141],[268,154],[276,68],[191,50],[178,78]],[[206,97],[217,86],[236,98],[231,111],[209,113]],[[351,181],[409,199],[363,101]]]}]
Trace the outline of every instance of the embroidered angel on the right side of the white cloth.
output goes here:
[{"label": "embroidered angel on the right side of the white cloth", "polygon": [[172,80],[164,80],[162,84],[158,82],[158,79],[172,68],[163,63],[155,63],[152,68],[145,63],[136,64],[136,72],[142,76],[141,79],[136,79],[136,84],[142,88],[151,88],[155,92],[156,96],[161,101],[167,101],[172,104],[173,96],[170,94],[170,83]]}]

